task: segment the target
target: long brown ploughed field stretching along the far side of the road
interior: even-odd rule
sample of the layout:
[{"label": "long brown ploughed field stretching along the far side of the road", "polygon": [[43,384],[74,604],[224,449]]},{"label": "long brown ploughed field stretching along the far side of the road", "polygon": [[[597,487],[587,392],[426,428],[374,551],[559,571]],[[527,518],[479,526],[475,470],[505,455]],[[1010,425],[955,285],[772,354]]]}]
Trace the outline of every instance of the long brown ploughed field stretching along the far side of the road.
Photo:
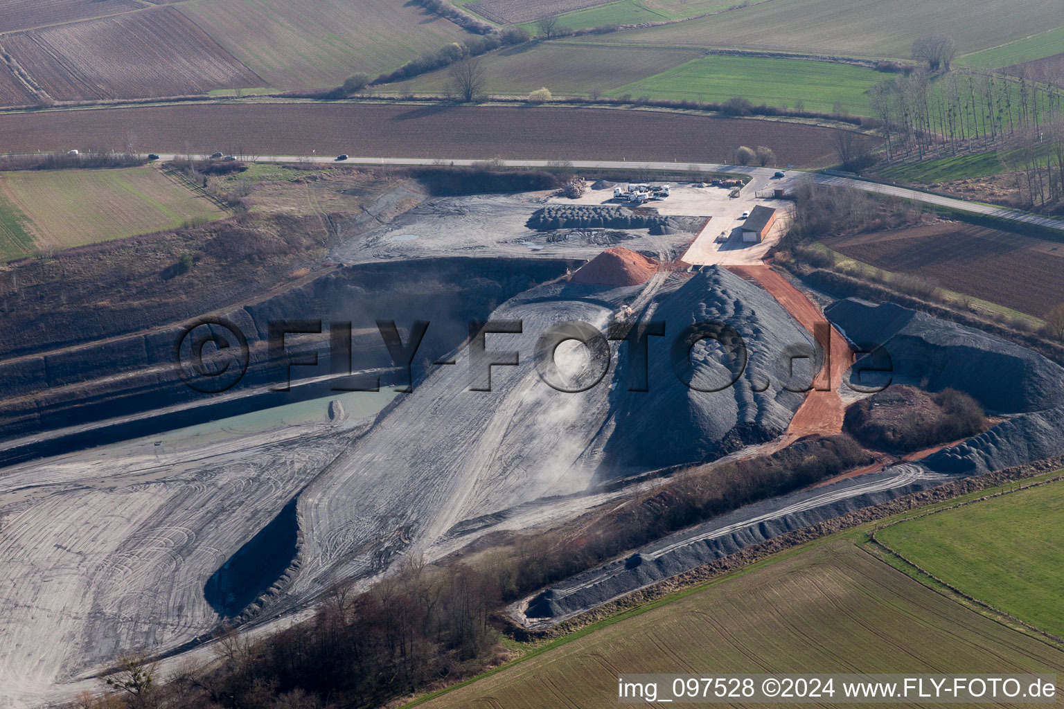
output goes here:
[{"label": "long brown ploughed field stretching along the far side of the road", "polygon": [[[202,104],[0,116],[16,152],[121,149],[370,157],[677,161],[722,163],[741,145],[768,146],[781,164],[834,159],[830,129],[652,111],[473,108],[363,104]],[[591,139],[589,136],[598,136]],[[613,136],[638,136],[637,140]]]}]

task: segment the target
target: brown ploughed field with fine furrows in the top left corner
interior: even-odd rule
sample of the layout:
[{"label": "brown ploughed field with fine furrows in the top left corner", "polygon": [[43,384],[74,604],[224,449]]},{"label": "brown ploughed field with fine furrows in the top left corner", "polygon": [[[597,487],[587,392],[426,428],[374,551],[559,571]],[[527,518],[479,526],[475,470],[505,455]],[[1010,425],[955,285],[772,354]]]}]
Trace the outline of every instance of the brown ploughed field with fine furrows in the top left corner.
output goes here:
[{"label": "brown ploughed field with fine furrows in the top left corner", "polygon": [[13,35],[4,47],[60,101],[265,84],[172,7]]}]

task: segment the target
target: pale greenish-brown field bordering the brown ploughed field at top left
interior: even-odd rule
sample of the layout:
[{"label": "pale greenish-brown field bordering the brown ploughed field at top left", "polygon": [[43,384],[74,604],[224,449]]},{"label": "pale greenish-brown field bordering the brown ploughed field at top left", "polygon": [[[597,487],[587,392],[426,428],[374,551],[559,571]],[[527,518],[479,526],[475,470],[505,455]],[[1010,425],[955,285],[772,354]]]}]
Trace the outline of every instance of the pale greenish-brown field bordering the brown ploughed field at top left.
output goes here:
[{"label": "pale greenish-brown field bordering the brown ploughed field at top left", "polygon": [[174,5],[267,84],[336,86],[356,71],[396,69],[469,36],[392,0],[193,0]]}]

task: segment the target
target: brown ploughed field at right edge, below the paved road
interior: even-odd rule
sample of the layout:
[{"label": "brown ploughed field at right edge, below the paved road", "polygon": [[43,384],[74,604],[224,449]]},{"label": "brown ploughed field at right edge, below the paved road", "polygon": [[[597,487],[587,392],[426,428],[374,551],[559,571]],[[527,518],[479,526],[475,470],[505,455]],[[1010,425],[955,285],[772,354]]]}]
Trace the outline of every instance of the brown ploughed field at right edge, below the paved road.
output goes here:
[{"label": "brown ploughed field at right edge, below the paved road", "polygon": [[824,243],[877,268],[1037,317],[1064,302],[1064,244],[1051,241],[944,222]]}]

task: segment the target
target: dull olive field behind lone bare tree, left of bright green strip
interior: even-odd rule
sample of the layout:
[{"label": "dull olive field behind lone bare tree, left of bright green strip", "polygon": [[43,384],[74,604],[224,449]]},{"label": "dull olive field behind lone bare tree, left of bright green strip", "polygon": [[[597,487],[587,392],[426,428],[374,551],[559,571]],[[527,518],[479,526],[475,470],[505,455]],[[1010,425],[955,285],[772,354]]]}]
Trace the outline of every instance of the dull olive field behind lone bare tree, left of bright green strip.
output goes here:
[{"label": "dull olive field behind lone bare tree, left of bright green strip", "polygon": [[[699,54],[697,50],[689,49],[618,49],[599,45],[543,43],[485,56],[485,90],[496,95],[527,96],[529,91],[546,86],[560,96],[587,96],[593,88],[605,95],[618,86],[666,71]],[[386,90],[394,94],[440,94],[447,83],[445,69],[390,84]]]}]

